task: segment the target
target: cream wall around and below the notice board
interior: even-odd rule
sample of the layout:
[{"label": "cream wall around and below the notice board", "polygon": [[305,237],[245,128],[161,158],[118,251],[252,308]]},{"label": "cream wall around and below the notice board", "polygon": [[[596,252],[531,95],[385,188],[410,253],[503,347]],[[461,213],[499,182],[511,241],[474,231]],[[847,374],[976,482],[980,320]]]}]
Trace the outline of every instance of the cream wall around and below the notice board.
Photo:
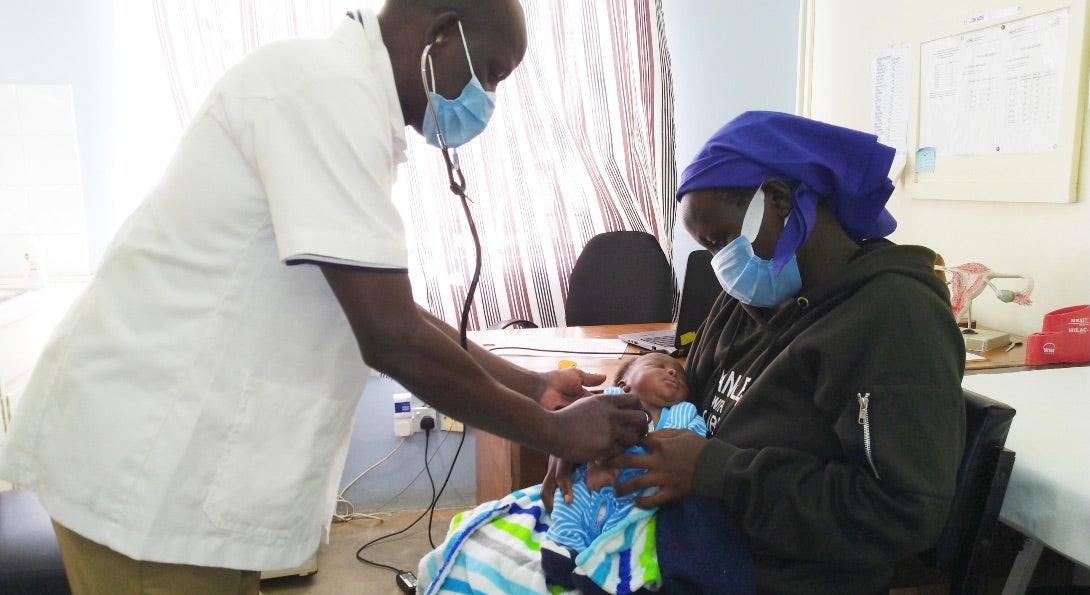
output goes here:
[{"label": "cream wall around and below the notice board", "polygon": [[[927,15],[929,21],[959,20],[1007,3],[995,0],[948,2],[815,2],[811,116],[836,124],[871,126],[872,49],[899,42],[898,23]],[[918,46],[911,48],[919,68]],[[994,270],[1031,275],[1031,306],[1004,304],[988,293],[973,302],[982,326],[1027,335],[1041,329],[1044,314],[1090,302],[1090,118],[1083,119],[1078,202],[1071,204],[998,203],[909,198],[898,187],[889,210],[898,221],[891,236],[922,244],[947,265],[979,262]],[[1020,282],[1004,287],[1020,289]]]}]

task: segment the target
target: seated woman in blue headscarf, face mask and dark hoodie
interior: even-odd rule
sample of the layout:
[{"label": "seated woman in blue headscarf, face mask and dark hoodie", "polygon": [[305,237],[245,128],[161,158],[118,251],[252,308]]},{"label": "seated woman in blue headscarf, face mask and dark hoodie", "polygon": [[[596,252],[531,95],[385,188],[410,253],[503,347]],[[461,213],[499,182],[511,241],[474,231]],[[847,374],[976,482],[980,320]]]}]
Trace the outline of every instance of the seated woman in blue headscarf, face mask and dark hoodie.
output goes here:
[{"label": "seated woman in blue headscarf, face mask and dark hoodie", "polygon": [[938,538],[965,344],[934,252],[884,240],[893,156],[871,134],[747,112],[682,173],[680,217],[725,290],[687,362],[711,439],[659,430],[609,462],[646,470],[618,496],[657,488],[634,502],[661,507],[668,593],[717,593],[734,562],[707,544],[735,532],[760,593],[884,592]]}]

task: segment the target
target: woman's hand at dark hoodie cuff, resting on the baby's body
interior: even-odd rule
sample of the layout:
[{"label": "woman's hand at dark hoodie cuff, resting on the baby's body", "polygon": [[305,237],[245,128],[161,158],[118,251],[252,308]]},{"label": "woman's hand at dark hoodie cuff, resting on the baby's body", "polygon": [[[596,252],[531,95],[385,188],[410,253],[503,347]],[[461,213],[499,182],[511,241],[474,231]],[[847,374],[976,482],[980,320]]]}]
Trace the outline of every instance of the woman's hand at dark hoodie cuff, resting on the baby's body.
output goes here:
[{"label": "woman's hand at dark hoodie cuff, resting on the baby's body", "polygon": [[647,454],[623,453],[606,461],[613,467],[647,470],[646,473],[617,485],[617,496],[657,487],[658,490],[654,494],[633,500],[640,508],[661,507],[689,496],[692,494],[697,459],[706,444],[705,438],[688,429],[661,429],[649,434],[640,445],[647,450]]}]

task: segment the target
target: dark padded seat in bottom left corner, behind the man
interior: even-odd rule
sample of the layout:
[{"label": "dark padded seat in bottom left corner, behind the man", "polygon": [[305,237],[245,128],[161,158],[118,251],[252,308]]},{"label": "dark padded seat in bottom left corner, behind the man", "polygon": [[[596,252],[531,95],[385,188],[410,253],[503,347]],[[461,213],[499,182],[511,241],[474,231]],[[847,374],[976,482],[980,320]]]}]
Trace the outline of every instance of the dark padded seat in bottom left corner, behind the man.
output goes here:
[{"label": "dark padded seat in bottom left corner, behind the man", "polygon": [[0,593],[70,595],[53,523],[26,489],[0,491]]}]

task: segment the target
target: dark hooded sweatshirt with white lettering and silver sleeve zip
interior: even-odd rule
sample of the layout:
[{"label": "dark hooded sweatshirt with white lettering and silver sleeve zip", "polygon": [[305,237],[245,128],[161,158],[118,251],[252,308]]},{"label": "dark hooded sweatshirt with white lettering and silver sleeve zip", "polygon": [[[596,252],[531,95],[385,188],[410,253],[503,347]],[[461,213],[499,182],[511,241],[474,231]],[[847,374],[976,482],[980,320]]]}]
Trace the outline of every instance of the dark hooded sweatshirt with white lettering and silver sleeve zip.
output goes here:
[{"label": "dark hooded sweatshirt with white lettering and silver sleeve zip", "polygon": [[777,309],[723,294],[688,357],[694,495],[741,526],[761,593],[877,593],[937,541],[965,441],[965,343],[935,254],[880,240]]}]

